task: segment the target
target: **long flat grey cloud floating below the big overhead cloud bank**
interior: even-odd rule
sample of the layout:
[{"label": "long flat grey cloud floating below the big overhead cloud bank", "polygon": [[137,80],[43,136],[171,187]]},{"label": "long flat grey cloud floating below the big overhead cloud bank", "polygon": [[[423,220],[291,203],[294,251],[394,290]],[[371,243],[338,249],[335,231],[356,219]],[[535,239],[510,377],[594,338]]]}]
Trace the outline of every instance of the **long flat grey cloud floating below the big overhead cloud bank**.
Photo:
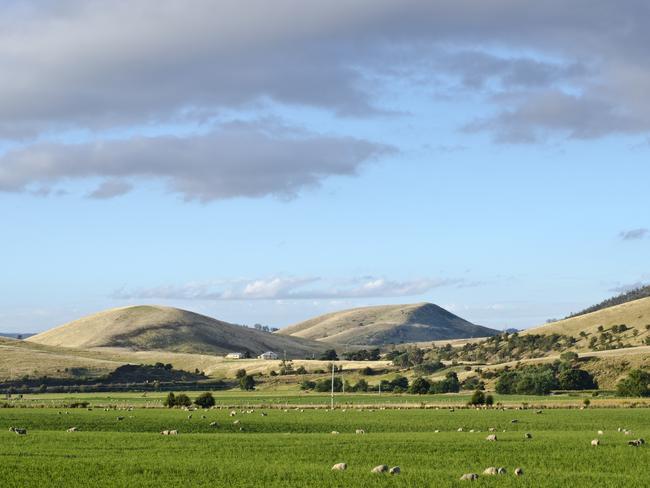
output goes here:
[{"label": "long flat grey cloud floating below the big overhead cloud bank", "polygon": [[111,198],[131,189],[124,178],[165,182],[185,199],[292,197],[392,148],[351,137],[285,127],[231,124],[187,137],[133,137],[85,144],[42,143],[0,156],[0,191],[63,180],[105,178],[90,196]]}]

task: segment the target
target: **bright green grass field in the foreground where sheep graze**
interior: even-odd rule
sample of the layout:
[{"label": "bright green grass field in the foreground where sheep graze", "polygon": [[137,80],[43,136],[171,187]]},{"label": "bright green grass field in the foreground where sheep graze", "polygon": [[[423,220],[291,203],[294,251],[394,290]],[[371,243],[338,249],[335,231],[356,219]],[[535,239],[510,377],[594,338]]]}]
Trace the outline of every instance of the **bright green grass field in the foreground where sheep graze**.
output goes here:
[{"label": "bright green grass field in the foreground where sheep graze", "polygon": [[[266,416],[238,409],[235,417],[229,411],[196,411],[189,419],[177,409],[0,409],[0,486],[448,487],[464,486],[458,481],[463,473],[481,474],[488,466],[504,466],[508,474],[481,476],[475,485],[641,487],[650,481],[650,447],[627,446],[632,438],[650,437],[647,408],[542,414],[292,408],[263,410]],[[219,426],[211,427],[213,421]],[[17,436],[9,426],[28,434]],[[66,432],[72,426],[79,432]],[[490,427],[497,442],[485,440]],[[165,429],[179,435],[161,436]],[[366,435],[355,435],[356,429]],[[524,432],[533,438],[524,439]],[[594,448],[596,437],[601,445]],[[348,470],[332,472],[337,462]],[[382,463],[399,465],[402,474],[370,473]],[[513,476],[515,467],[524,469],[523,477]]]}]

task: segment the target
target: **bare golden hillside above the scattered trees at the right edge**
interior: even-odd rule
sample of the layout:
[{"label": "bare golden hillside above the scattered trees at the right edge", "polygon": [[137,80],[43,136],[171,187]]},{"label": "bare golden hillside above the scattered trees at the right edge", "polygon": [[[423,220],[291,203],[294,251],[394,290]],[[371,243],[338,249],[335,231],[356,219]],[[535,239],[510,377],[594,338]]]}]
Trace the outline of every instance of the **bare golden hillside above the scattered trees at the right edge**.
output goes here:
[{"label": "bare golden hillside above the scattered trees at the right edge", "polygon": [[[646,329],[646,325],[650,325],[650,298],[642,298],[603,308],[596,312],[558,320],[557,322],[527,329],[522,331],[521,334],[563,334],[580,339],[580,333],[583,332],[586,337],[580,339],[578,347],[584,349],[591,337],[600,336],[599,326],[603,327],[603,332],[608,332],[611,331],[612,326],[620,326],[621,324],[627,326],[629,330],[614,334],[615,337],[620,338],[624,344],[643,344],[650,334],[650,331]],[[637,331],[636,335],[635,330]]]}]

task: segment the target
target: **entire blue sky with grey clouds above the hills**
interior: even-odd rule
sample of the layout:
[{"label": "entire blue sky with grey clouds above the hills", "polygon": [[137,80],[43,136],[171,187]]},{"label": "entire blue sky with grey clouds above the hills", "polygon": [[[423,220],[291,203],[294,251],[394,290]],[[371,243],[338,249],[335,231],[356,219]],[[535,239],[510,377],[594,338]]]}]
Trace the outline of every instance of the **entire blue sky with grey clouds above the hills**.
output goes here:
[{"label": "entire blue sky with grey clouds above the hills", "polygon": [[645,1],[4,0],[0,330],[650,282]]}]

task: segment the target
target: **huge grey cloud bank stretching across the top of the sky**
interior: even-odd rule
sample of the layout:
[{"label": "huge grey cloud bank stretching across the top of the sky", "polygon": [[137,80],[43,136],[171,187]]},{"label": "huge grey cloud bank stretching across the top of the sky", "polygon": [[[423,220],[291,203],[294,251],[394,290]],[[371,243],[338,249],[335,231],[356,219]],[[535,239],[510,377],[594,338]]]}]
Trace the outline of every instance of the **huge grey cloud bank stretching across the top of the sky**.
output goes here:
[{"label": "huge grey cloud bank stretching across the top of the sky", "polygon": [[8,0],[0,134],[264,100],[371,115],[369,74],[455,78],[487,96],[471,127],[501,142],[647,134],[649,16],[644,0]]}]

